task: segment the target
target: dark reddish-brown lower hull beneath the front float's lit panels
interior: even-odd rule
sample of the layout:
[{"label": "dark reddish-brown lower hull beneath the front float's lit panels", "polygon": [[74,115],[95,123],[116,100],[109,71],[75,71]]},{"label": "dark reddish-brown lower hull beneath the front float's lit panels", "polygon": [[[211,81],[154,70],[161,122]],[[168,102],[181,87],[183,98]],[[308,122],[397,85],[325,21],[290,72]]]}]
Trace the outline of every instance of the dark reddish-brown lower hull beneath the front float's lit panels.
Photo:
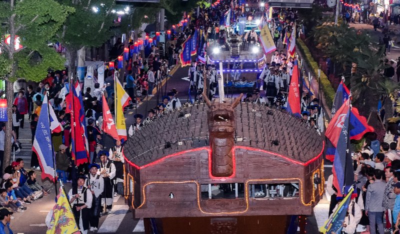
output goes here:
[{"label": "dark reddish-brown lower hull beneath the front float's lit panels", "polygon": [[[233,216],[158,218],[159,234],[285,234],[290,216]],[[151,234],[149,219],[144,219],[145,233]]]}]

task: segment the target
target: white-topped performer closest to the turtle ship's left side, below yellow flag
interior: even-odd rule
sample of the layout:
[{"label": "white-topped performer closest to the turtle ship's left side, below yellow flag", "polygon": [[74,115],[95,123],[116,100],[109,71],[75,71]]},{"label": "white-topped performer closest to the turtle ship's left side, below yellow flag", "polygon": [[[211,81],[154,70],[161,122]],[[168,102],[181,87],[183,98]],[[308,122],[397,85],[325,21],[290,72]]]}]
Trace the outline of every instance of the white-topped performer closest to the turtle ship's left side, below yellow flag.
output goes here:
[{"label": "white-topped performer closest to the turtle ship's left side, below yellow flag", "polygon": [[109,149],[108,159],[111,160],[115,166],[115,177],[113,180],[113,185],[114,185],[114,197],[116,197],[118,191],[117,185],[118,183],[123,183],[123,164],[125,162],[122,156],[121,141],[117,140],[115,142],[115,146]]}]

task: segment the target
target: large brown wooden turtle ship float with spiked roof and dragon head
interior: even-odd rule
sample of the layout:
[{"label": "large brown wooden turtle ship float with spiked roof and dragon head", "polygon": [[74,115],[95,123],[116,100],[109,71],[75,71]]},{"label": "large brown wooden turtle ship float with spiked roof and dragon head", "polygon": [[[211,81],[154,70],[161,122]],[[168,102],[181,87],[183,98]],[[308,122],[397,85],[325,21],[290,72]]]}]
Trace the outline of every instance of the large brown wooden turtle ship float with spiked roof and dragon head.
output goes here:
[{"label": "large brown wooden turtle ship float with spiked roof and dragon head", "polygon": [[311,215],[323,194],[321,137],[240,97],[204,96],[125,143],[125,201],[146,234],[283,234]]}]

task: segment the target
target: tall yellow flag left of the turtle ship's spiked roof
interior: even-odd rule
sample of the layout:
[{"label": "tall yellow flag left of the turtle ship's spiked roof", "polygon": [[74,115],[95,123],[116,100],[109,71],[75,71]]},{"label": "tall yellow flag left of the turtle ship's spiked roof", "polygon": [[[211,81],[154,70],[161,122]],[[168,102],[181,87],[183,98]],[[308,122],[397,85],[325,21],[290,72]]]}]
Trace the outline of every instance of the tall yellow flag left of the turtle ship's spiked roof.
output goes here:
[{"label": "tall yellow flag left of the turtle ship's spiked roof", "polygon": [[125,116],[123,115],[123,108],[129,105],[129,101],[132,99],[123,89],[121,83],[115,78],[115,95],[114,95],[114,106],[115,106],[115,122],[116,132],[118,133],[119,139],[127,140]]}]

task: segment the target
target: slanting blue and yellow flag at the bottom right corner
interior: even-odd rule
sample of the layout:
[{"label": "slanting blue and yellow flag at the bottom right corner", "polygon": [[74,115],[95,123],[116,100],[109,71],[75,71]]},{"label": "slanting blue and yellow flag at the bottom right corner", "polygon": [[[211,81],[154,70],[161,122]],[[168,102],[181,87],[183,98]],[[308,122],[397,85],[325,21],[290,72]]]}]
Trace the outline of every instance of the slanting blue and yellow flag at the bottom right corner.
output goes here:
[{"label": "slanting blue and yellow flag at the bottom right corner", "polygon": [[325,221],[325,224],[319,229],[319,232],[323,234],[340,233],[343,225],[344,218],[346,217],[346,212],[348,210],[348,204],[350,204],[351,193],[353,188],[348,191],[346,197],[337,205],[336,210],[330,216],[330,218]]}]

